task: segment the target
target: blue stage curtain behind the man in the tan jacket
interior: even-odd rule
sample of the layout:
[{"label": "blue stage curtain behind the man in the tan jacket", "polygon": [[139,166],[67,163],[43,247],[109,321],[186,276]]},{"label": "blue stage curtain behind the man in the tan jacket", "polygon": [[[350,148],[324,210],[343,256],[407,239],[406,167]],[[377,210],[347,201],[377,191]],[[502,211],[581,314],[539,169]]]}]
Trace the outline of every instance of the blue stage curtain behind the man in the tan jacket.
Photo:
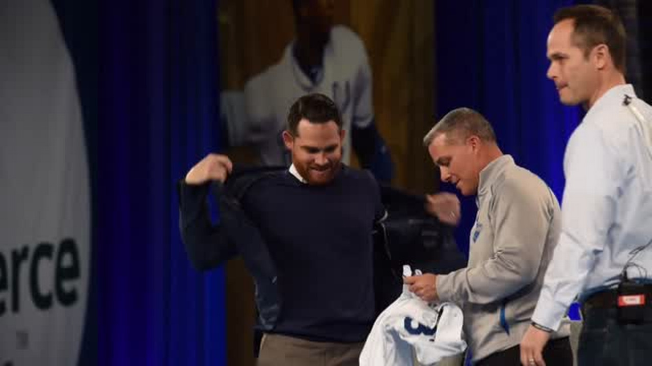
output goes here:
[{"label": "blue stage curtain behind the man in the tan jacket", "polygon": [[[435,16],[435,119],[457,107],[479,111],[494,126],[503,152],[541,176],[559,201],[564,150],[582,112],[562,106],[546,78],[546,40],[555,10],[574,3],[440,0]],[[457,241],[467,253],[477,208],[475,197],[462,201]]]}]

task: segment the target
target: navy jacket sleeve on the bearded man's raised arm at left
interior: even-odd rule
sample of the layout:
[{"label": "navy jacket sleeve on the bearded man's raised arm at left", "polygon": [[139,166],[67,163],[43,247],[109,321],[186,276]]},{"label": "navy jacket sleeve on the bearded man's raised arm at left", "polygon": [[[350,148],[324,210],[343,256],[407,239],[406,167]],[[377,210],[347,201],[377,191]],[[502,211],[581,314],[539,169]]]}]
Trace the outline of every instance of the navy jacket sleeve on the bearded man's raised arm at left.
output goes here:
[{"label": "navy jacket sleeve on the bearded man's raised arm at left", "polygon": [[209,270],[237,255],[220,223],[213,225],[209,216],[207,195],[209,184],[194,186],[180,180],[179,231],[188,259],[198,270]]}]

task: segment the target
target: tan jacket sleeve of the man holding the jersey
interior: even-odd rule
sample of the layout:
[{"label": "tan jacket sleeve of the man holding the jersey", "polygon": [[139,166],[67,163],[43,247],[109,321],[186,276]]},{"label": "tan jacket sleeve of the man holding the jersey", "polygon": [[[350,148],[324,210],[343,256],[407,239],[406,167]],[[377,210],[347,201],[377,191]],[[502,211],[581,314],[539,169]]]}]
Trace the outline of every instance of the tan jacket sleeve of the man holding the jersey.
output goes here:
[{"label": "tan jacket sleeve of the man holding the jersey", "polygon": [[535,280],[552,212],[546,195],[533,193],[524,184],[505,182],[494,196],[494,255],[479,264],[437,276],[442,301],[492,303]]}]

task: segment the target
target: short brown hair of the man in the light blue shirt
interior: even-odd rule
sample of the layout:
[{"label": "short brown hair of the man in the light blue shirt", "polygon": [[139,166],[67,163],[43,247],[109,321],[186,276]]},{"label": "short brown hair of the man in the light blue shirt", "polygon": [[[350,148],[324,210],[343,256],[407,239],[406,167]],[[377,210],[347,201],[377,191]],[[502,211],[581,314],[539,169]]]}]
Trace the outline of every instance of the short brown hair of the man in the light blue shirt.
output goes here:
[{"label": "short brown hair of the man in the light blue shirt", "polygon": [[595,46],[606,44],[615,68],[625,74],[627,34],[615,12],[599,5],[575,5],[557,10],[555,24],[567,19],[574,21],[572,42],[584,51],[584,57],[588,57]]}]

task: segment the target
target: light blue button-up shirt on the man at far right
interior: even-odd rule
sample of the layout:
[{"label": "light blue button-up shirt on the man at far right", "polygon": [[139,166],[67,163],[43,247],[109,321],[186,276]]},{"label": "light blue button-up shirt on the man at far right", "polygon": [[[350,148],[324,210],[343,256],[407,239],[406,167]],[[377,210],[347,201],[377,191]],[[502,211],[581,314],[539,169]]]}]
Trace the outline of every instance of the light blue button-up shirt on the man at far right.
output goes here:
[{"label": "light blue button-up shirt on the man at far right", "polygon": [[532,317],[542,326],[557,329],[578,294],[616,285],[628,262],[630,278],[652,279],[652,245],[632,253],[652,241],[652,107],[635,96],[610,89],[571,135],[561,236]]}]

